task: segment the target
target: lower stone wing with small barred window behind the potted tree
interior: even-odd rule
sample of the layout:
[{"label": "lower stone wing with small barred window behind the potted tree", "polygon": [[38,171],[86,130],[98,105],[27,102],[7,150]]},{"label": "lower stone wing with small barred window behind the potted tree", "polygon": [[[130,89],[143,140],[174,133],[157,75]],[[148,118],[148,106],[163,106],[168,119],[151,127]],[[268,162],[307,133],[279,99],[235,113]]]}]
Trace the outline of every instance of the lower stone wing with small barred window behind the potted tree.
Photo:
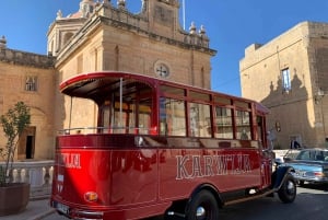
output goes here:
[{"label": "lower stone wing with small barred window behind the potted tree", "polygon": [[[55,59],[12,50],[0,39],[0,114],[23,101],[31,108],[31,127],[21,138],[17,159],[48,159],[54,146]],[[0,148],[5,138],[0,129]],[[1,158],[0,158],[1,160]]]}]

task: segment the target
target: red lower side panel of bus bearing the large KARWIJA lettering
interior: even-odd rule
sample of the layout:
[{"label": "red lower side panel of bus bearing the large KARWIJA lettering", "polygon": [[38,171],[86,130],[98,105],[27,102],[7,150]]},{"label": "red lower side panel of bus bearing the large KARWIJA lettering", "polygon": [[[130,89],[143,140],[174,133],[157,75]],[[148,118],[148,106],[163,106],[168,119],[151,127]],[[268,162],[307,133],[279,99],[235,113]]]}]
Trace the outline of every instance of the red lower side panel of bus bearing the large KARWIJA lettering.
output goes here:
[{"label": "red lower side panel of bus bearing the large KARWIJA lettering", "polygon": [[204,183],[221,193],[261,185],[258,149],[169,149],[165,161],[160,164],[161,199],[188,198]]}]

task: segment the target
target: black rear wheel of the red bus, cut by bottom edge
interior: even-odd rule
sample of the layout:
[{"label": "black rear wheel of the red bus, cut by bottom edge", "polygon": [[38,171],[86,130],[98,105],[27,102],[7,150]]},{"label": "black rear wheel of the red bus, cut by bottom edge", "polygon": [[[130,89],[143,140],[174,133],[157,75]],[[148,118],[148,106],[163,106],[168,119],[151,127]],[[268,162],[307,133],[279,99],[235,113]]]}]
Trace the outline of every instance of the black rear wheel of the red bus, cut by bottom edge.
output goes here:
[{"label": "black rear wheel of the red bus, cut by bottom edge", "polygon": [[218,220],[219,206],[209,190],[201,190],[191,198],[186,209],[186,220]]}]

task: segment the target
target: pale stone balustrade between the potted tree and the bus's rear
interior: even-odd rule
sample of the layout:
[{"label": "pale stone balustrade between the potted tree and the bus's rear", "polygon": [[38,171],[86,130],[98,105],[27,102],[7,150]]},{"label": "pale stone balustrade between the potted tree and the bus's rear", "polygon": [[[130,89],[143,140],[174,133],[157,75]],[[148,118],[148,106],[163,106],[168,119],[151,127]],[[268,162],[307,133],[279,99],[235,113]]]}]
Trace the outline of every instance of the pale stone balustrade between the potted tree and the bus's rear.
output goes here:
[{"label": "pale stone balustrade between the potted tree and the bus's rear", "polygon": [[[4,166],[4,162],[0,162]],[[54,161],[17,161],[13,163],[11,182],[31,184],[31,199],[49,197],[51,193]]]}]

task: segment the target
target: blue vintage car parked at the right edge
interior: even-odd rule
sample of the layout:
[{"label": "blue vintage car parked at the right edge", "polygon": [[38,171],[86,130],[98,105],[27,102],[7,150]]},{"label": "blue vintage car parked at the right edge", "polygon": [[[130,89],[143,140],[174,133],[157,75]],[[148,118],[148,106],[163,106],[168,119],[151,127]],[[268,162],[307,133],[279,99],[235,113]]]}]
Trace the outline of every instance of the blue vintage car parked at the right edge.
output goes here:
[{"label": "blue vintage car parked at the right edge", "polygon": [[300,185],[328,183],[328,149],[303,149],[295,158],[284,158],[284,162],[294,169],[292,174]]}]

